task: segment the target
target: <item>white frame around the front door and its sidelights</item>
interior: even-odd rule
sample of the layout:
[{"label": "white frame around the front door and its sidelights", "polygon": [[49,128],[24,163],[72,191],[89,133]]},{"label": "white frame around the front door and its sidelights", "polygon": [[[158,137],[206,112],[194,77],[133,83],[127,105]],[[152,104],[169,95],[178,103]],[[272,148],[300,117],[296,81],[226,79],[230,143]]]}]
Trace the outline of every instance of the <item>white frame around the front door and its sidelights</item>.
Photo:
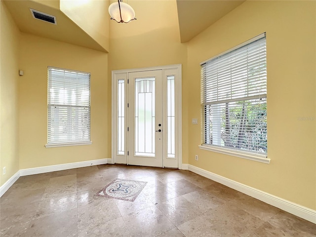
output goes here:
[{"label": "white frame around the front door and its sidelights", "polygon": [[[127,156],[127,135],[124,136],[124,144],[125,144],[125,152],[124,155],[118,155],[118,79],[124,79],[127,81],[128,73],[133,72],[145,72],[145,71],[153,71],[153,70],[162,70],[162,80],[168,76],[168,71],[176,72],[175,77],[175,156],[178,159],[178,168],[182,169],[182,65],[166,65],[159,67],[149,67],[149,68],[135,68],[135,69],[124,69],[124,70],[113,70],[112,71],[112,155],[111,155],[111,163],[124,163],[126,160],[126,164],[128,164],[128,156]],[[125,129],[127,128],[127,83],[124,83],[125,90]],[[162,91],[163,94],[165,93]],[[167,108],[163,108],[163,114],[166,114]],[[163,135],[163,139],[166,139],[166,134]],[[163,151],[164,152],[164,151]],[[163,160],[162,160],[163,162]],[[164,167],[164,163],[162,164]],[[166,166],[167,167],[167,166]]]}]

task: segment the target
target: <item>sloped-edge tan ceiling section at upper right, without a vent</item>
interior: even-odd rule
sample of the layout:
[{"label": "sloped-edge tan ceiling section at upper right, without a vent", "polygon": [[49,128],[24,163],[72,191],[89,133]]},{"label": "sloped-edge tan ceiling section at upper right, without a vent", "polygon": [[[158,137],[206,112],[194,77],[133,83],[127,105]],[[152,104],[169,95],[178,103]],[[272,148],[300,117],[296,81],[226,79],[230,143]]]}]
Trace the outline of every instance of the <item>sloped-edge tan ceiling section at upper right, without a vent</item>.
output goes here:
[{"label": "sloped-edge tan ceiling section at upper right, without a vent", "polygon": [[244,0],[176,0],[181,42],[188,42]]}]

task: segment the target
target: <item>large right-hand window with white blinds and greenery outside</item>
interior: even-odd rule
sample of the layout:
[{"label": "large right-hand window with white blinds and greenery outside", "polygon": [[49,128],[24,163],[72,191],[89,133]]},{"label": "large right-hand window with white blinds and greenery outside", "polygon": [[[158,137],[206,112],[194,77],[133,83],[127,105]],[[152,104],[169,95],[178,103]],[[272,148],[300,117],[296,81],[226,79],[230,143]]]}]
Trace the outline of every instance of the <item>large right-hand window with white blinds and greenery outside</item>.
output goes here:
[{"label": "large right-hand window with white blinds and greenery outside", "polygon": [[202,146],[267,157],[265,34],[201,63],[201,104]]}]

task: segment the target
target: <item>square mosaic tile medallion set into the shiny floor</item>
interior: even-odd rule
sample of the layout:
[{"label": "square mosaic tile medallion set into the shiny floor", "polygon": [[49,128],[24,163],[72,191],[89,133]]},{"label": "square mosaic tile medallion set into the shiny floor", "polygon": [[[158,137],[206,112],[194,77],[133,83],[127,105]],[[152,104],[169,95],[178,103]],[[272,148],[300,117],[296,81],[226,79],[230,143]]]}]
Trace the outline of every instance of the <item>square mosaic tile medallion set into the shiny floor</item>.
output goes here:
[{"label": "square mosaic tile medallion set into the shiny floor", "polygon": [[146,184],[147,182],[143,181],[116,179],[105,186],[96,195],[100,197],[134,201]]}]

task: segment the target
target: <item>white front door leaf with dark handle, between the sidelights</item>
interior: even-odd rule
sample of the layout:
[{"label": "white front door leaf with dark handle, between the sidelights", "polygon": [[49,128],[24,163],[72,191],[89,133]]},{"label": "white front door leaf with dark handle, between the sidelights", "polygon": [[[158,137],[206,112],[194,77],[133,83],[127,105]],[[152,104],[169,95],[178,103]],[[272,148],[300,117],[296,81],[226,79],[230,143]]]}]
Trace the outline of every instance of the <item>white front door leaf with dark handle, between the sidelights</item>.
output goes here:
[{"label": "white front door leaf with dark handle, between the sidelights", "polygon": [[128,163],[162,167],[162,71],[128,74]]}]

